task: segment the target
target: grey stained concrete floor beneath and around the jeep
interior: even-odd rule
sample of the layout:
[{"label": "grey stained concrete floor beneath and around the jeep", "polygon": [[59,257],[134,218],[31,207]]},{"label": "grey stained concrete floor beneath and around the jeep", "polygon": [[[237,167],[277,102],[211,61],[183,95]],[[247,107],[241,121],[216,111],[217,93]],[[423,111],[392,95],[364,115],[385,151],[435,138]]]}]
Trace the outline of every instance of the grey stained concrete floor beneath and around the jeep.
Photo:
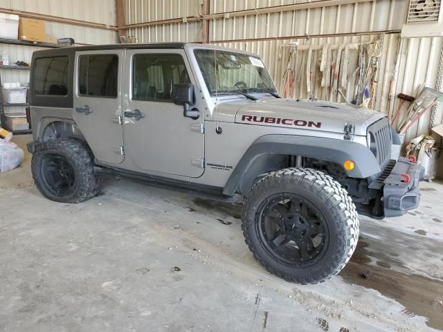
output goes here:
[{"label": "grey stained concrete floor beneath and around the jeep", "polygon": [[345,270],[300,286],[254,261],[239,207],[102,178],[69,205],[39,194],[29,154],[0,174],[0,331],[443,329],[442,183],[406,216],[361,217]]}]

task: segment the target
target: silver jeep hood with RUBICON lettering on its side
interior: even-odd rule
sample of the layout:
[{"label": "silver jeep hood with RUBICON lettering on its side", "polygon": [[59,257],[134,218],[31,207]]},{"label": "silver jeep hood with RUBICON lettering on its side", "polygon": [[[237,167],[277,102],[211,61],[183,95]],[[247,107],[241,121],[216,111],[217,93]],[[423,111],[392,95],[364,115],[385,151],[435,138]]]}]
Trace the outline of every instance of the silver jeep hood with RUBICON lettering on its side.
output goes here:
[{"label": "silver jeep hood with RUBICON lettering on its side", "polygon": [[[226,109],[224,109],[226,105]],[[238,107],[236,107],[238,106]],[[350,104],[320,100],[287,100],[263,98],[234,105],[220,104],[224,111],[235,111],[235,122],[271,127],[311,129],[343,133],[345,123],[354,124],[354,134],[366,136],[368,126],[384,114]]]}]

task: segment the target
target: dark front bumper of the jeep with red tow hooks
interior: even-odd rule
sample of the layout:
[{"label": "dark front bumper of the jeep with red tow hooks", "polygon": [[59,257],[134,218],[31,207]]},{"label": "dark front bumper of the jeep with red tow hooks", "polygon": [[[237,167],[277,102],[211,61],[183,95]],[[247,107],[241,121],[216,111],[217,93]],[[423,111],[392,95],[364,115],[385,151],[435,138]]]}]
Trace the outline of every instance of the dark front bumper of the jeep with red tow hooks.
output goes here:
[{"label": "dark front bumper of the jeep with red tow hooks", "polygon": [[[407,179],[410,179],[409,183]],[[424,178],[424,167],[400,157],[384,181],[383,203],[385,217],[402,216],[416,209],[420,203],[419,182]]]}]

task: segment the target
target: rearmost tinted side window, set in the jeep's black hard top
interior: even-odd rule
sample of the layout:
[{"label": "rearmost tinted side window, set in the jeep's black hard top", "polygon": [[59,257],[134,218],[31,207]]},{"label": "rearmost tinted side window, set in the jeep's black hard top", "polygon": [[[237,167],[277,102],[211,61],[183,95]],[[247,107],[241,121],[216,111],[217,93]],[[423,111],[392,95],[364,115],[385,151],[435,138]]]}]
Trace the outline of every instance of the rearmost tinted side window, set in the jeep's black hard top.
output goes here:
[{"label": "rearmost tinted side window, set in the jeep's black hard top", "polygon": [[33,93],[36,95],[68,94],[68,57],[36,59],[33,68]]}]

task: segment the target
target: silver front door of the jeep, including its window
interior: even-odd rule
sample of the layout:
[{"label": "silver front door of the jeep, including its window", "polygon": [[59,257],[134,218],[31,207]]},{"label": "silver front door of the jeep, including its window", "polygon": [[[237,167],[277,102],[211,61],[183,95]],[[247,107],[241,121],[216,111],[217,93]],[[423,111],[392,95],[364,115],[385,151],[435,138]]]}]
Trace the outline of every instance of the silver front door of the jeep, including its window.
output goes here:
[{"label": "silver front door of the jeep, including its window", "polygon": [[[174,84],[195,86],[184,50],[127,50],[123,108],[125,155],[147,172],[198,177],[204,172],[204,108],[197,120],[172,102]],[[196,94],[197,91],[196,91]]]}]

